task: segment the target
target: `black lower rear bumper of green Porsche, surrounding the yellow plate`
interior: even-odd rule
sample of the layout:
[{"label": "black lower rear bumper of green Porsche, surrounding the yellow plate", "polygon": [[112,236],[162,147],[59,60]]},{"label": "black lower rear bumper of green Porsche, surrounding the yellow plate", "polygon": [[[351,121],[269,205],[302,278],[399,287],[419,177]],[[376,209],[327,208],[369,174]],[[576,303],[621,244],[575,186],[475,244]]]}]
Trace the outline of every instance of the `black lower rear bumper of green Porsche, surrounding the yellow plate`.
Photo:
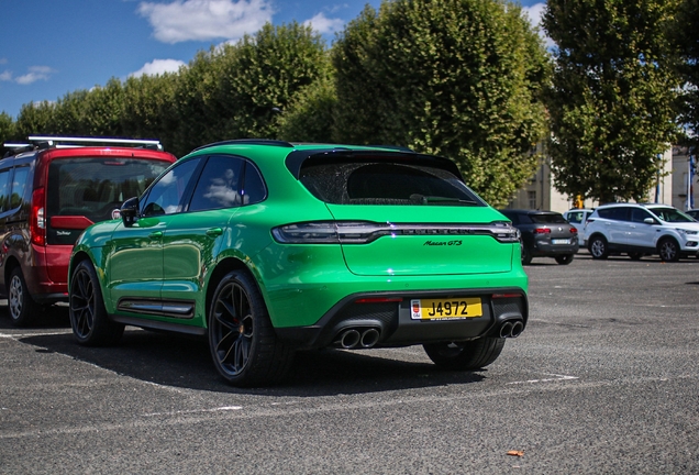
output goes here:
[{"label": "black lower rear bumper of green Porsche, surrounding the yellow plate", "polygon": [[[461,319],[415,320],[411,300],[418,298],[480,297],[482,316]],[[318,323],[276,329],[277,335],[299,349],[404,346],[434,342],[466,341],[500,336],[506,322],[526,325],[529,302],[521,288],[452,289],[418,292],[366,292],[345,297]],[[373,332],[370,344],[364,338],[347,346],[343,334],[356,330],[364,336]]]}]

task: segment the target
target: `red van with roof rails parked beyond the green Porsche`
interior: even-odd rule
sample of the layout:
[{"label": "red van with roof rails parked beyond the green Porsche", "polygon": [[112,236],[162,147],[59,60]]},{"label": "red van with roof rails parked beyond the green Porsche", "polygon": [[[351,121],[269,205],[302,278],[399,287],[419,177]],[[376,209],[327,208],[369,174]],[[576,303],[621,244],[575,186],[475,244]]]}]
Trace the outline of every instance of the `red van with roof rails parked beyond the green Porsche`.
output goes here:
[{"label": "red van with roof rails parked beyond the green Porsche", "polygon": [[78,235],[146,187],[176,157],[158,141],[30,136],[0,159],[0,294],[12,323],[68,300]]}]

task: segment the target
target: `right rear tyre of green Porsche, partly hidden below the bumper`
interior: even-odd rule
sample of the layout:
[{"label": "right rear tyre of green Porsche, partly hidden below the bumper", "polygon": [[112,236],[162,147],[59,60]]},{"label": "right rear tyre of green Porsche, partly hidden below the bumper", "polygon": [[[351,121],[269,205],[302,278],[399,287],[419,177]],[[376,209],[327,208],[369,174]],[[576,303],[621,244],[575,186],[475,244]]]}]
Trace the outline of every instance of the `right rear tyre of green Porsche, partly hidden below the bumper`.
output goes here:
[{"label": "right rear tyre of green Porsche, partly hidden below the bumper", "polygon": [[440,367],[454,371],[475,371],[496,361],[504,347],[504,339],[481,338],[467,342],[429,343],[425,353]]}]

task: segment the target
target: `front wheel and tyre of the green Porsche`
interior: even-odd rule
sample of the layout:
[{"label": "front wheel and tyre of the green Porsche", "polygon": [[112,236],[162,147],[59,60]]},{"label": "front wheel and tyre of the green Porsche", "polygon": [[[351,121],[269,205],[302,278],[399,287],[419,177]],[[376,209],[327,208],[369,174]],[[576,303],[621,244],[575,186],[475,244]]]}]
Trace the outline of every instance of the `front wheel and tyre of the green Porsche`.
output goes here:
[{"label": "front wheel and tyre of the green Porsche", "polygon": [[124,325],[107,314],[100,281],[89,261],[82,261],[73,273],[68,314],[73,335],[81,345],[112,345],[124,334]]}]

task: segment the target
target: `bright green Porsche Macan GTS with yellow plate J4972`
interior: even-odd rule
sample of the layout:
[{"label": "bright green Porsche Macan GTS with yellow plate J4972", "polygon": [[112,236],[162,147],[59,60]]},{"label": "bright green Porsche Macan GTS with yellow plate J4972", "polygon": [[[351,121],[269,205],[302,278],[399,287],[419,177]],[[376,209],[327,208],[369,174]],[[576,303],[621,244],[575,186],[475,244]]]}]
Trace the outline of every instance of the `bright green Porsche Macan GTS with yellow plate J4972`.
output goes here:
[{"label": "bright green Porsche Macan GTS with yellow plate J4972", "polygon": [[118,220],[79,238],[70,323],[208,336],[235,386],[293,354],[422,344],[448,369],[492,363],[528,320],[519,232],[437,156],[240,140],[195,150]]}]

